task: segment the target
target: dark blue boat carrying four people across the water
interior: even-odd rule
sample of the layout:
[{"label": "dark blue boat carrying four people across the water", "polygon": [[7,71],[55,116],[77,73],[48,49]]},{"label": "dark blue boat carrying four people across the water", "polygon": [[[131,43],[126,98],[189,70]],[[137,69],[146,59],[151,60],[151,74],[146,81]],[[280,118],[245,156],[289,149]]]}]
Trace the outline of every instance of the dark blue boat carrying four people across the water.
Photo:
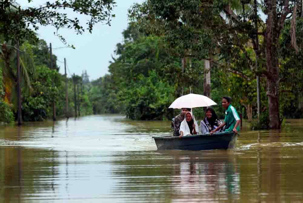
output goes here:
[{"label": "dark blue boat carrying four people across the water", "polygon": [[237,135],[234,132],[219,132],[212,135],[153,136],[158,150],[209,150],[233,148]]}]

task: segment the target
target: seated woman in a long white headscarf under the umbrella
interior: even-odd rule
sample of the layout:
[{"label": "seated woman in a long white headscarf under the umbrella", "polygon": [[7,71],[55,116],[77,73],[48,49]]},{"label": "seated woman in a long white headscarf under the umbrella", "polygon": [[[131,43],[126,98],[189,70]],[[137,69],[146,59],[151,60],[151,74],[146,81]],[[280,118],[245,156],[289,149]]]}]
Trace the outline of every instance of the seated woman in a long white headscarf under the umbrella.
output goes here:
[{"label": "seated woman in a long white headscarf under the umbrella", "polygon": [[199,131],[199,127],[195,117],[192,115],[192,112],[187,112],[185,114],[184,120],[181,122],[180,125],[180,138],[185,135],[197,135]]}]

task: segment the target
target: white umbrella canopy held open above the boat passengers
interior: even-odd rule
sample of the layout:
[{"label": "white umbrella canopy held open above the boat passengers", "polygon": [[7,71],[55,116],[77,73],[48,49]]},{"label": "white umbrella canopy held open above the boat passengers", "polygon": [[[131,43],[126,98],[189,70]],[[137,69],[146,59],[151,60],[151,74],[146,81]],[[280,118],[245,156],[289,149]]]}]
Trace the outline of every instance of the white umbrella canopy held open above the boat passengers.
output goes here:
[{"label": "white umbrella canopy held open above the boat passengers", "polygon": [[188,94],[177,98],[168,108],[195,108],[216,104],[215,101],[204,95]]}]

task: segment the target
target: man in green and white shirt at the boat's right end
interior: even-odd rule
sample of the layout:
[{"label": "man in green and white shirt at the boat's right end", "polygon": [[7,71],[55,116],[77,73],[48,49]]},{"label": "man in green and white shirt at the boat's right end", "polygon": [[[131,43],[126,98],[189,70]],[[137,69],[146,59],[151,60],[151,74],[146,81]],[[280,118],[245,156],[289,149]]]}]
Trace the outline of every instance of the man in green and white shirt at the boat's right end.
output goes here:
[{"label": "man in green and white shirt at the boat's right end", "polygon": [[231,105],[231,98],[230,97],[223,97],[222,98],[222,106],[226,109],[224,121],[221,125],[218,126],[218,128],[211,131],[209,134],[213,134],[214,132],[223,128],[225,125],[226,125],[225,132],[234,131],[235,134],[237,134],[238,131],[240,130],[240,126],[239,126],[240,118],[239,118],[239,115],[238,115],[235,107],[233,107]]}]

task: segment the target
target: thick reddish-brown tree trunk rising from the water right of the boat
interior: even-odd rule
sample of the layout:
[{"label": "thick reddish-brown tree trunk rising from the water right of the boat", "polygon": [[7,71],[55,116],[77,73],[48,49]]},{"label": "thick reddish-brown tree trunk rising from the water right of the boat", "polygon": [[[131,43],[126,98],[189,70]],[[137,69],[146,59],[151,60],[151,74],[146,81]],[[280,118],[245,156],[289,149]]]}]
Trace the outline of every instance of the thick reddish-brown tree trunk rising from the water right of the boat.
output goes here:
[{"label": "thick reddish-brown tree trunk rising from the water right of the boat", "polygon": [[[272,3],[272,4],[275,4]],[[269,106],[269,127],[280,129],[281,121],[279,115],[279,62],[278,62],[278,40],[280,31],[276,7],[269,6],[268,18],[265,32],[265,54],[267,67],[267,96]]]}]

